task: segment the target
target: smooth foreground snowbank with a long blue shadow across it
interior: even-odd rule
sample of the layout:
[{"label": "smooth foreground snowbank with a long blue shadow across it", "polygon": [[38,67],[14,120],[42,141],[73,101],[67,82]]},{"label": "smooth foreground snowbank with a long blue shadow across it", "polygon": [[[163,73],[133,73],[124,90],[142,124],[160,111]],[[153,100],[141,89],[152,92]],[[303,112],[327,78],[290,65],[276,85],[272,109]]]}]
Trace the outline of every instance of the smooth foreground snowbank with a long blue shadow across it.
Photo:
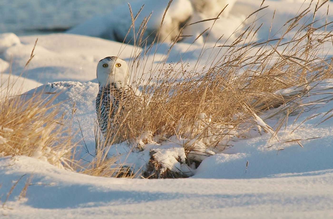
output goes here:
[{"label": "smooth foreground snowbank with a long blue shadow across it", "polygon": [[[332,170],[264,179],[145,180],[94,177],[28,157],[15,159],[14,163],[9,158],[0,159],[0,194],[4,204],[0,214],[9,218],[333,216]],[[26,195],[20,196],[28,177],[31,181]]]}]

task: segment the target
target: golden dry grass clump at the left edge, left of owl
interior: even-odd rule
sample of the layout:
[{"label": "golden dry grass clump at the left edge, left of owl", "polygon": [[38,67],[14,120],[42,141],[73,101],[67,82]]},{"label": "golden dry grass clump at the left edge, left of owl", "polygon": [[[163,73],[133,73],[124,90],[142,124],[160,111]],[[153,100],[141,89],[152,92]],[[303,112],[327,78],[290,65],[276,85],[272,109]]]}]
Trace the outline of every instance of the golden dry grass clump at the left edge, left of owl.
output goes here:
[{"label": "golden dry grass clump at the left edge, left of owl", "polygon": [[8,92],[0,97],[1,156],[29,156],[72,169],[75,144],[65,114],[57,110],[57,104],[51,105],[56,97],[45,101],[42,94],[10,96]]}]

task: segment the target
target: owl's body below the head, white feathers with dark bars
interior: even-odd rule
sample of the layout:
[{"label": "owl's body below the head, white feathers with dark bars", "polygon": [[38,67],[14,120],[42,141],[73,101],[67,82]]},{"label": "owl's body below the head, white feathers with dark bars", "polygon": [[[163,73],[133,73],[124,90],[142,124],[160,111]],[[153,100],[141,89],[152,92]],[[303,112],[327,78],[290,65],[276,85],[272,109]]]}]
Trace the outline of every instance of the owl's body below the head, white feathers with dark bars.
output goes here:
[{"label": "owl's body below the head, white feathers with dark bars", "polygon": [[[114,83],[99,88],[96,97],[96,113],[101,132],[106,138],[108,130],[119,125],[126,98],[133,95],[133,90],[117,88]],[[116,116],[117,118],[115,118]]]}]

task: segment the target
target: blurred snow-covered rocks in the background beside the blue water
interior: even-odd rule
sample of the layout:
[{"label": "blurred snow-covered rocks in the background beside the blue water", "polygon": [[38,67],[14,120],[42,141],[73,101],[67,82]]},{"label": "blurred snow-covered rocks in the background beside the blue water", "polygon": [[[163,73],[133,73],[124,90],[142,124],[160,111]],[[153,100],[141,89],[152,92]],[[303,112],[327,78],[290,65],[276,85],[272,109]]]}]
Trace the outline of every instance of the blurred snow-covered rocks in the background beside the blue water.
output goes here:
[{"label": "blurred snow-covered rocks in the background beside the blue water", "polygon": [[[136,35],[142,29],[141,22],[152,13],[144,36],[144,38],[148,37],[148,42],[152,42],[156,35],[159,36],[160,41],[170,42],[178,35],[179,29],[184,27],[181,35],[187,37],[178,39],[182,40],[182,42],[193,43],[196,39],[196,44],[204,42],[216,43],[218,41],[223,43],[227,40],[232,43],[240,35],[240,30],[244,27],[247,28],[253,21],[258,24],[262,23],[261,28],[253,36],[253,39],[261,40],[280,36],[277,32],[280,31],[284,22],[293,18],[297,11],[306,9],[310,1],[267,0],[261,5],[262,1],[260,0],[174,0],[166,12],[163,26],[160,29],[167,3],[168,1],[160,2],[155,0],[131,2],[134,16],[144,5],[135,22],[135,32],[133,32],[133,28],[129,31],[132,25],[132,18],[127,3],[124,3],[124,5],[114,8],[107,14],[97,15],[75,26],[67,33],[101,37],[119,42],[125,40],[125,42],[133,44],[134,38],[138,38]],[[333,3],[328,2],[327,4],[333,7]],[[228,6],[220,14],[226,5]],[[250,14],[266,6],[269,7],[248,18]],[[315,8],[314,3],[311,8]],[[320,18],[326,16],[326,12],[327,7],[321,7],[316,12],[316,18],[320,20]],[[272,19],[273,14],[274,19]],[[328,22],[331,21],[331,15],[332,12],[329,11]],[[206,19],[213,19],[217,16],[219,16],[217,20],[184,26],[186,23],[192,24]],[[271,27],[272,22],[273,25]],[[300,20],[300,23],[309,22],[308,18]],[[321,19],[319,22],[325,24],[325,19]],[[254,27],[254,29],[257,29],[257,27]],[[206,32],[204,32],[205,30]],[[204,34],[202,34],[203,32]],[[200,36],[200,34],[202,35]],[[197,39],[198,36],[200,37]]]}]

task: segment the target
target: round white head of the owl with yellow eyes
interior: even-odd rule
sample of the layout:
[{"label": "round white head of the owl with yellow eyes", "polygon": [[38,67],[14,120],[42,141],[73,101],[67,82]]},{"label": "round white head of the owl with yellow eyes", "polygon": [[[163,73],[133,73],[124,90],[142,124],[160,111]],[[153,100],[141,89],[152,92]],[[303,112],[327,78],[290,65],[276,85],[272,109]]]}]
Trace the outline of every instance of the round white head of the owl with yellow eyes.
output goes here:
[{"label": "round white head of the owl with yellow eyes", "polygon": [[127,63],[124,59],[116,56],[108,56],[100,60],[97,64],[97,80],[101,86],[111,83],[117,86],[128,83]]}]

